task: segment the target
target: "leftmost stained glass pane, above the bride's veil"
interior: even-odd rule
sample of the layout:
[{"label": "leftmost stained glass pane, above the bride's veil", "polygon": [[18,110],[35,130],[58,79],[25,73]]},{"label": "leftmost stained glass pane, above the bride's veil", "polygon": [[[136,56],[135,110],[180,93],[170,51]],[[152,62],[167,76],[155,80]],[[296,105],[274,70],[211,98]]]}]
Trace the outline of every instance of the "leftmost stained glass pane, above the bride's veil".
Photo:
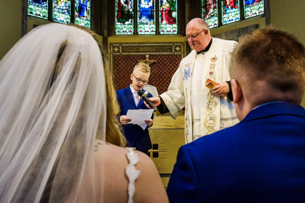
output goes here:
[{"label": "leftmost stained glass pane, above the bride's veil", "polygon": [[27,14],[38,18],[48,19],[48,0],[28,0]]}]

